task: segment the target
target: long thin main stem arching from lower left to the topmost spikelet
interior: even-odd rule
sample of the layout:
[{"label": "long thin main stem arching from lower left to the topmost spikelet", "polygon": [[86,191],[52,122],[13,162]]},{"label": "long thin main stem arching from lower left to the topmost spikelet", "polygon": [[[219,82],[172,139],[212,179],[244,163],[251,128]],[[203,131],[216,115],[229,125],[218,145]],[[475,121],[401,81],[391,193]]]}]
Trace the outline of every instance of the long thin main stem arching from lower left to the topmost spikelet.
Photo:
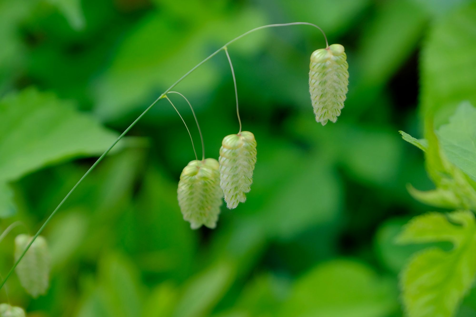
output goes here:
[{"label": "long thin main stem arching from lower left to the topmost spikelet", "polygon": [[228,43],[226,43],[225,45],[223,45],[221,48],[219,48],[218,50],[214,51],[213,53],[211,53],[207,58],[203,59],[201,62],[199,62],[197,65],[195,65],[192,69],[190,69],[187,73],[185,73],[185,75],[183,75],[182,77],[180,77],[176,82],[174,82],[172,84],[172,86],[170,86],[167,90],[165,90],[154,102],[152,102],[150,104],[149,107],[147,107],[147,109],[144,110],[144,112],[142,112],[139,117],[137,117],[137,119],[135,119],[130,125],[129,127],[127,127],[127,129],[124,130],[124,132],[121,133],[121,135],[119,135],[119,137],[114,141],[114,143],[111,144],[111,146],[96,160],[96,162],[94,162],[94,164],[86,171],[86,173],[84,173],[84,175],[79,179],[79,181],[76,183],[76,185],[74,185],[73,188],[71,188],[71,190],[69,191],[68,194],[66,194],[66,196],[63,198],[63,200],[61,200],[60,204],[55,208],[55,210],[53,210],[53,212],[50,214],[50,216],[45,220],[45,222],[43,223],[43,225],[40,227],[40,229],[38,229],[37,233],[33,236],[33,238],[31,239],[30,243],[27,245],[27,247],[25,248],[25,250],[21,253],[20,257],[15,261],[15,263],[13,264],[13,266],[10,268],[10,271],[7,273],[7,275],[5,276],[5,278],[1,281],[1,284],[0,284],[0,288],[2,288],[5,283],[7,282],[8,278],[11,276],[11,274],[13,273],[13,271],[15,270],[15,267],[18,266],[18,264],[20,263],[21,259],[25,256],[25,254],[27,253],[28,249],[31,247],[31,244],[36,240],[36,238],[38,238],[38,236],[41,234],[41,232],[43,232],[43,229],[48,225],[48,223],[51,221],[51,218],[54,217],[54,215],[56,214],[56,212],[58,211],[58,209],[61,208],[61,206],[63,205],[63,203],[66,201],[66,199],[69,198],[69,196],[72,194],[72,192],[79,186],[79,184],[82,183],[82,181],[84,180],[84,178],[86,178],[89,173],[94,169],[96,168],[96,166],[102,161],[102,159],[108,155],[109,151],[119,142],[120,139],[122,139],[128,132],[130,129],[132,129],[132,127],[134,127],[136,125],[136,123],[142,119],[142,117],[147,113],[149,112],[149,110],[155,106],[155,104],[162,98],[164,98],[167,93],[172,90],[175,86],[178,85],[179,82],[181,82],[183,79],[185,79],[188,75],[190,75],[195,69],[197,69],[198,67],[200,67],[203,63],[205,63],[208,59],[211,59],[213,56],[217,55],[218,52],[220,52],[221,50],[224,50],[228,45],[230,45],[231,43],[235,42],[236,40],[239,40],[241,39],[242,37],[248,35],[249,33],[252,33],[254,31],[257,31],[257,30],[262,30],[262,29],[266,29],[266,28],[274,28],[274,27],[282,27],[282,26],[290,26],[290,25],[310,25],[310,26],[313,26],[315,28],[317,28],[318,30],[320,30],[322,32],[322,34],[324,35],[324,39],[326,40],[326,45],[327,47],[329,46],[328,43],[327,43],[327,38],[326,38],[326,34],[324,33],[324,31],[319,28],[317,25],[315,24],[312,24],[312,23],[307,23],[307,22],[292,22],[292,23],[282,23],[282,24],[269,24],[269,25],[264,25],[264,26],[261,26],[261,27],[258,27],[258,28],[255,28],[253,30],[249,30],[248,32],[245,32],[243,34],[241,34],[240,36],[234,38],[233,40],[230,40]]}]

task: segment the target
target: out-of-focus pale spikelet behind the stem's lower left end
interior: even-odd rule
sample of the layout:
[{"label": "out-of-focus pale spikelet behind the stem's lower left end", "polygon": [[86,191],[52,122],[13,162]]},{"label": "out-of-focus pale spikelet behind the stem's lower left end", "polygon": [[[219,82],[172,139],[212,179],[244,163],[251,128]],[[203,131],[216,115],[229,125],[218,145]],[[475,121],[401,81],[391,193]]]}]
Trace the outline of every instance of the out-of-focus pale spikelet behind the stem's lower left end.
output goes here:
[{"label": "out-of-focus pale spikelet behind the stem's lower left end", "polygon": [[[30,243],[33,237],[19,235],[15,238],[15,259],[20,258],[21,253]],[[38,297],[46,293],[50,278],[50,253],[45,238],[39,236],[35,239],[25,256],[16,267],[21,286],[32,297]]]}]

